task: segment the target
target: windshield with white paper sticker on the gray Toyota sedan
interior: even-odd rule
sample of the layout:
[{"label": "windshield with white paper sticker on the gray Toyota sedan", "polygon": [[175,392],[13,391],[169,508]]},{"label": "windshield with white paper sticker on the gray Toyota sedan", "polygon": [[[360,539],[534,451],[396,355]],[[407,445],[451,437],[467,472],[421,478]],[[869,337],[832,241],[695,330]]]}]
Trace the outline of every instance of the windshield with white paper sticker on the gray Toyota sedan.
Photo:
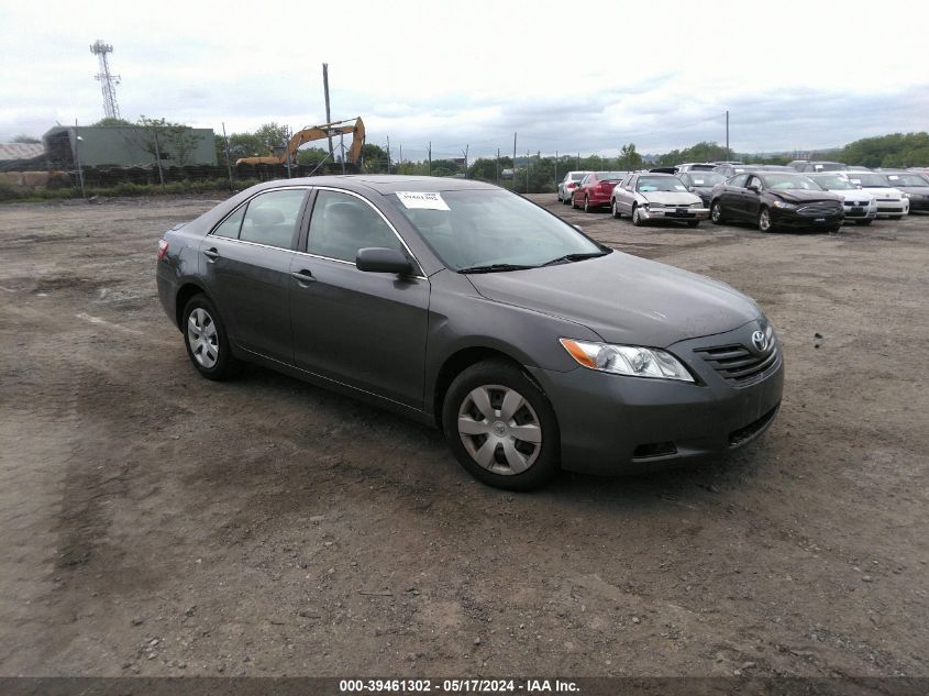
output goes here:
[{"label": "windshield with white paper sticker on the gray Toyota sedan", "polygon": [[[452,270],[494,265],[541,266],[573,254],[608,254],[557,217],[499,189],[442,191],[431,208],[386,196]],[[506,268],[500,268],[506,270]]]}]

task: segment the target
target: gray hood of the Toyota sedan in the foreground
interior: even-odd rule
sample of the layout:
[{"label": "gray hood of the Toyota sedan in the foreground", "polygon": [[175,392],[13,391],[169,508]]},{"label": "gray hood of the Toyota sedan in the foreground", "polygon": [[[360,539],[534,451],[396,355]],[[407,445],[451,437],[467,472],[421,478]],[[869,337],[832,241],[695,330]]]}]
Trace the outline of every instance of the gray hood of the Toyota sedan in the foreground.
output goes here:
[{"label": "gray hood of the Toyota sedan in the foreground", "polygon": [[467,277],[487,299],[563,317],[611,343],[667,347],[761,316],[752,299],[723,283],[621,252]]}]

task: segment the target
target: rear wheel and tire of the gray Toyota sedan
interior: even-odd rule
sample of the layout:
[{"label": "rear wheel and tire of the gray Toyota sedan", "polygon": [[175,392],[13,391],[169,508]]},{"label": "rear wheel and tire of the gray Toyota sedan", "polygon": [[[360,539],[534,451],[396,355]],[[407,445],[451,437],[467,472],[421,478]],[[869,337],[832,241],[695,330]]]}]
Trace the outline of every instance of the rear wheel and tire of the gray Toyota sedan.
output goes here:
[{"label": "rear wheel and tire of the gray Toyota sedan", "polygon": [[195,295],[184,308],[184,345],[187,357],[203,377],[214,382],[235,374],[237,361],[232,355],[225,324],[206,295]]}]

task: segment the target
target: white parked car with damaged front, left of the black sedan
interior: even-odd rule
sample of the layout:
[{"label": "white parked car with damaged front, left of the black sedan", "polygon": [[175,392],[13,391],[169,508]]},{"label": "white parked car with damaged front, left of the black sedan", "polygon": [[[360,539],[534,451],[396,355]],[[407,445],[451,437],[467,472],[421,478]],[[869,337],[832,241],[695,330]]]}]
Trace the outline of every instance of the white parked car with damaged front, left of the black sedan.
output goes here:
[{"label": "white parked car with damaged front, left of the black sedan", "polygon": [[650,220],[673,220],[696,228],[700,220],[709,218],[709,208],[700,197],[671,174],[626,177],[612,189],[610,210],[613,218],[630,216],[637,227]]}]

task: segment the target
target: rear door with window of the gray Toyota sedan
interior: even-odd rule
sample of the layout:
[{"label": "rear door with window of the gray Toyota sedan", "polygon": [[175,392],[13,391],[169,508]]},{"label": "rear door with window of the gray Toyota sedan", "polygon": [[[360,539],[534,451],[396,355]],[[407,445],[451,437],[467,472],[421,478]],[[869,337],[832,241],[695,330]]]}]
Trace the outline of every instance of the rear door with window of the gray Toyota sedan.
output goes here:
[{"label": "rear door with window of the gray Toyota sedan", "polygon": [[201,277],[236,345],[294,364],[290,259],[308,187],[263,191],[200,243]]}]

